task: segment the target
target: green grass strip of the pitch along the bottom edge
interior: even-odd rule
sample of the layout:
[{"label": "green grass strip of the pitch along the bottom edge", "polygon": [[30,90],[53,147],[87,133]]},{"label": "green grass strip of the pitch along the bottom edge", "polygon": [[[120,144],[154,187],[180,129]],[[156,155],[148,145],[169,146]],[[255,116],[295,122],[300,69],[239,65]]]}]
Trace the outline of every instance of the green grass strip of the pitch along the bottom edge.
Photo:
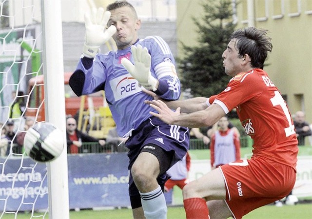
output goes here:
[{"label": "green grass strip of the pitch along the bottom edge", "polygon": [[[37,214],[38,215],[38,214]],[[42,217],[39,217],[42,219]],[[70,219],[131,219],[131,209],[115,209],[115,210],[81,210],[70,211]],[[169,207],[168,219],[185,219],[185,212],[182,206]],[[1,219],[14,219],[14,215],[5,214]],[[31,214],[20,213],[17,219],[35,219]],[[45,217],[48,219],[48,216]],[[266,205],[258,208],[243,219],[312,219],[312,204],[284,205],[283,207],[275,207],[274,205]]]}]

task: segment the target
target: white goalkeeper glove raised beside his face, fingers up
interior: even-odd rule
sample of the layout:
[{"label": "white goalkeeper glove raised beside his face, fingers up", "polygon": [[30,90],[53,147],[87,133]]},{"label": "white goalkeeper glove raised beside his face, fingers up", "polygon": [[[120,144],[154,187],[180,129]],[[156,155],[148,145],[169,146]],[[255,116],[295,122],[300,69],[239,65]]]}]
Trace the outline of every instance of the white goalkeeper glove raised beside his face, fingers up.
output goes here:
[{"label": "white goalkeeper glove raised beside his face, fingers up", "polygon": [[99,47],[107,42],[116,32],[116,27],[111,25],[105,32],[107,22],[111,17],[109,11],[103,8],[94,8],[90,13],[84,15],[86,27],[86,35],[82,55],[88,58],[93,58],[97,55]]}]

